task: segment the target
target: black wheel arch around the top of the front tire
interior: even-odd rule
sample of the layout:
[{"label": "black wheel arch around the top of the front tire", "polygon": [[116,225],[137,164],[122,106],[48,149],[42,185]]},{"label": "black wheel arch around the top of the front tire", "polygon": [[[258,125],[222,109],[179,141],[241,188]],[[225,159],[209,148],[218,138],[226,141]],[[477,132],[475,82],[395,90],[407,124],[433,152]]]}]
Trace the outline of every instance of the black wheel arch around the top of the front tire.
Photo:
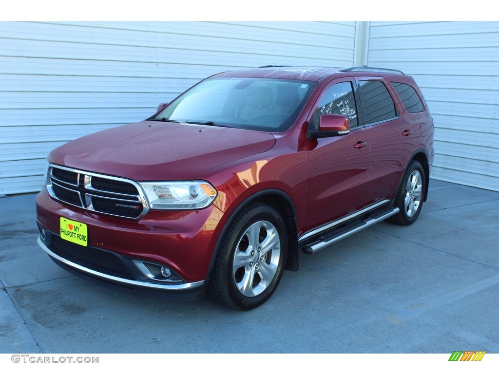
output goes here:
[{"label": "black wheel arch around the top of the front tire", "polygon": [[231,213],[229,219],[224,225],[215,245],[215,250],[212,254],[212,259],[210,261],[210,267],[208,269],[207,279],[211,278],[213,267],[215,266],[215,261],[218,255],[219,247],[222,239],[224,238],[228,227],[230,226],[234,217],[250,203],[262,202],[267,205],[272,206],[281,215],[284,224],[286,226],[287,241],[288,241],[288,251],[287,260],[285,264],[286,270],[297,271],[298,270],[298,233],[296,228],[296,208],[291,197],[280,189],[263,189],[258,192],[253,193],[245,200],[243,200],[236,209]]}]

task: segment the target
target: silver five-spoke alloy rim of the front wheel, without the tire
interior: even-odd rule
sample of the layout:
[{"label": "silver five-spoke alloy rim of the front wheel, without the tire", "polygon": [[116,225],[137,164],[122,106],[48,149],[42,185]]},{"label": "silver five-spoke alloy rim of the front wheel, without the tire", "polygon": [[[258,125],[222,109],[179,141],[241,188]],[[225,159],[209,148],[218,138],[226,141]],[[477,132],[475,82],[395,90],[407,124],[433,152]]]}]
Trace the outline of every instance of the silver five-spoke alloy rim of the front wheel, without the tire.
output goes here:
[{"label": "silver five-spoke alloy rim of the front wheel, without the tire", "polygon": [[261,294],[272,282],[281,255],[279,233],[268,221],[250,225],[234,251],[233,278],[246,297]]}]

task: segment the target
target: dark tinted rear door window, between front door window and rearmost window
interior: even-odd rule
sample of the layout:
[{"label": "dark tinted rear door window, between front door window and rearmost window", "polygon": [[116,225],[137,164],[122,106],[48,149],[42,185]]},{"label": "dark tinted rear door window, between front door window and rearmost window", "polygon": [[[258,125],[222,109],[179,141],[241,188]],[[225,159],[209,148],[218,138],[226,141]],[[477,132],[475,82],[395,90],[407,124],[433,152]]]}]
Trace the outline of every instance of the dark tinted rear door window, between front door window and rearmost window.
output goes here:
[{"label": "dark tinted rear door window, between front door window and rearmost window", "polygon": [[359,92],[366,125],[397,117],[395,103],[383,82],[359,81]]}]

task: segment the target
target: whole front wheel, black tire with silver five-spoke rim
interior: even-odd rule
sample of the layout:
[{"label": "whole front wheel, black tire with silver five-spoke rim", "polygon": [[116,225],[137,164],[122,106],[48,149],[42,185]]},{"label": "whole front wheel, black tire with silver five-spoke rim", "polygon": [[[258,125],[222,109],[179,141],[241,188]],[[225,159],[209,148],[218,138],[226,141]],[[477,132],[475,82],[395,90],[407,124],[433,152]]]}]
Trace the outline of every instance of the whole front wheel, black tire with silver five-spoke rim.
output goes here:
[{"label": "whole front wheel, black tire with silver five-spoke rim", "polygon": [[208,295],[233,309],[256,308],[277,288],[286,256],[282,217],[267,204],[250,204],[232,220],[221,241]]}]

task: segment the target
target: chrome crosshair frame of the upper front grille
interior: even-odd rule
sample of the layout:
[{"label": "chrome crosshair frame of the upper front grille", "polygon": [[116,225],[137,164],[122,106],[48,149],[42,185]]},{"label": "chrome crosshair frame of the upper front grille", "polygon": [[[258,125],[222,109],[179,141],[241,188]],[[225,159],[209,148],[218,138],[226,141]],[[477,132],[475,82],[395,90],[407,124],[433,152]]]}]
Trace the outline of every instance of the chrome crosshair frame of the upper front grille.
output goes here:
[{"label": "chrome crosshair frame of the upper front grille", "polygon": [[[84,187],[87,186],[86,185],[87,182],[91,181],[91,177],[98,177],[98,178],[102,178],[102,179],[109,179],[109,180],[113,180],[113,181],[117,181],[117,182],[124,182],[124,183],[128,183],[128,184],[133,185],[135,188],[137,188],[138,195],[130,195],[130,194],[124,194],[124,193],[119,193],[119,192],[106,191],[106,190],[96,189],[96,188],[93,188],[93,187],[89,188],[88,190],[89,191],[94,190],[94,191],[99,191],[99,192],[103,192],[103,193],[116,194],[116,195],[122,195],[122,196],[128,196],[128,197],[131,197],[131,196],[137,197],[138,200],[128,200],[126,198],[123,198],[121,200],[133,201],[135,203],[142,204],[142,213],[139,216],[137,216],[137,217],[127,217],[126,215],[112,214],[112,213],[106,213],[106,212],[101,212],[101,211],[95,210],[93,208],[91,198],[89,198],[89,199],[86,198],[87,193],[85,193],[85,202],[83,202],[83,199],[81,197],[81,193],[80,193],[79,190],[75,191],[75,190],[73,190],[71,188],[60,186],[58,183],[55,183],[54,181],[51,180],[51,178],[52,178],[52,170],[54,168],[55,169],[65,170],[65,171],[77,174],[78,175],[78,181],[80,180],[80,177],[83,175],[83,177],[84,177]],[[66,183],[64,181],[60,181],[60,180],[58,180],[55,177],[53,177],[53,178],[55,180],[61,182],[61,183],[65,183],[65,184],[67,184],[69,186],[78,187],[78,185],[73,185],[71,183]],[[67,202],[67,201],[64,201],[64,200],[61,200],[61,199],[57,198],[57,196],[55,195],[55,192],[54,192],[54,190],[52,188],[52,183],[55,184],[55,185],[57,185],[58,187],[65,188],[65,189],[67,189],[69,191],[78,192],[78,195],[80,196],[81,206],[78,206],[78,205],[75,205],[75,204],[72,204],[70,202]],[[130,179],[126,179],[126,178],[113,177],[113,176],[108,176],[108,175],[105,175],[105,174],[98,174],[98,173],[86,172],[84,170],[79,170],[79,169],[74,169],[74,168],[67,168],[67,167],[64,167],[64,166],[56,165],[56,164],[49,164],[48,165],[48,173],[47,173],[46,186],[47,186],[47,190],[48,190],[49,195],[53,199],[55,199],[57,201],[61,201],[61,202],[66,203],[66,204],[69,204],[69,205],[72,205],[72,206],[77,206],[79,208],[95,212],[97,214],[106,214],[106,215],[110,215],[110,216],[113,216],[113,217],[120,217],[120,218],[128,218],[128,219],[140,220],[149,211],[149,204],[147,202],[146,194],[145,194],[144,190],[142,189],[142,186],[140,186],[140,184],[138,184],[137,182],[132,181]],[[91,193],[88,193],[88,194],[91,195],[91,196],[96,196],[96,197],[101,197],[101,198],[120,200],[120,199],[113,198],[113,197],[98,196],[98,195],[93,195]]]}]

